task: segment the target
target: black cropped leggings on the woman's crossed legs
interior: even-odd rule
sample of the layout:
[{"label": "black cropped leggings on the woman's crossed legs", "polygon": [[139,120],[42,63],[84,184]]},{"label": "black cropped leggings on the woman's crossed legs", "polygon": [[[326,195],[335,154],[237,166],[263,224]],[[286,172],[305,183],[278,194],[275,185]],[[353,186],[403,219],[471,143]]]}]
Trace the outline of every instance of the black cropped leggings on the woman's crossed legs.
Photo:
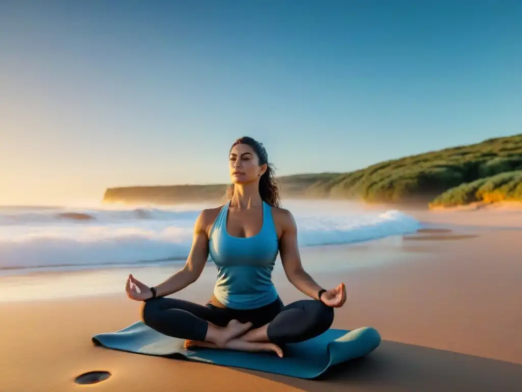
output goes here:
[{"label": "black cropped leggings on the woman's crossed legs", "polygon": [[145,302],[141,319],[163,335],[197,341],[205,340],[208,322],[224,327],[236,319],[252,322],[252,328],[270,323],[267,329],[270,342],[285,344],[321,335],[334,321],[334,308],[315,299],[302,299],[284,306],[278,298],[263,307],[237,310],[159,297]]}]

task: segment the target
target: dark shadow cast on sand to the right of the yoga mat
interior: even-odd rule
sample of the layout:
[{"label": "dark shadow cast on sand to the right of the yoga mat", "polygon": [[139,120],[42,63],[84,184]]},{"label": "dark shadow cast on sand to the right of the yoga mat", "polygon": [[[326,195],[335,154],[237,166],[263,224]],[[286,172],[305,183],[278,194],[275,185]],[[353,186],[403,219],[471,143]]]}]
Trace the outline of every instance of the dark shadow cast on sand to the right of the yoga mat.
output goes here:
[{"label": "dark shadow cast on sand to the right of the yoga mat", "polygon": [[522,390],[521,364],[390,341],[383,341],[366,358],[337,365],[313,381],[237,371],[314,392]]}]

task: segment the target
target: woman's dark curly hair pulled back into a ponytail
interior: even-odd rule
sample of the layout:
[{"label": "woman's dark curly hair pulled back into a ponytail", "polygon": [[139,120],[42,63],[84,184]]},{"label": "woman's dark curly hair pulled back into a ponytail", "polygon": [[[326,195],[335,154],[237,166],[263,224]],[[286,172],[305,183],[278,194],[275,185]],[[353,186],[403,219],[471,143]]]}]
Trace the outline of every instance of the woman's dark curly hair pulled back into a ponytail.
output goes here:
[{"label": "woman's dark curly hair pulled back into a ponytail", "polygon": [[[232,148],[238,144],[247,144],[251,146],[254,149],[254,152],[256,153],[257,157],[259,158],[259,166],[264,164],[267,165],[266,171],[264,172],[263,176],[261,176],[261,178],[259,179],[259,194],[261,195],[261,199],[265,203],[271,205],[272,207],[281,206],[281,201],[279,200],[279,189],[277,186],[277,182],[274,178],[275,168],[270,163],[268,163],[268,153],[266,152],[263,143],[259,143],[250,136],[243,136],[232,144],[232,147],[230,147],[230,151],[232,151]],[[229,186],[227,194],[228,198],[232,199],[232,196],[234,195],[233,185]]]}]

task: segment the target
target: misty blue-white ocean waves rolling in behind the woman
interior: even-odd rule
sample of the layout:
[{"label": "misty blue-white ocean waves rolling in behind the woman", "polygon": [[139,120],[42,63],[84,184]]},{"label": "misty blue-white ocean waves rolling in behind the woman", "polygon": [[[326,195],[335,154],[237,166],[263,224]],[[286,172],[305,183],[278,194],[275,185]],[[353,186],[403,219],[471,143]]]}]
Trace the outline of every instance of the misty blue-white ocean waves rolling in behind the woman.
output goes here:
[{"label": "misty blue-white ocean waves rolling in behind the woman", "polygon": [[[0,274],[185,262],[201,209],[173,206],[0,207]],[[288,200],[300,247],[353,244],[416,232],[413,217],[355,202]]]}]

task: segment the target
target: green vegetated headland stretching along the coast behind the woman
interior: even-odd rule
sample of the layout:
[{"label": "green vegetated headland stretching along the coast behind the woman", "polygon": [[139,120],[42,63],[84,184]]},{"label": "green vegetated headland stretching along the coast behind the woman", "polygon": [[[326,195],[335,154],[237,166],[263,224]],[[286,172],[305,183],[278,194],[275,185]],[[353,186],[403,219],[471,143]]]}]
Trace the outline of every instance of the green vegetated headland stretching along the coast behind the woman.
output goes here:
[{"label": "green vegetated headland stretching along the coast behind the woman", "polygon": [[[388,160],[348,173],[285,176],[278,182],[283,197],[370,203],[435,199],[430,205],[449,206],[520,200],[520,170],[522,134]],[[225,191],[226,185],[112,188],[104,200],[175,203],[221,199]]]}]

